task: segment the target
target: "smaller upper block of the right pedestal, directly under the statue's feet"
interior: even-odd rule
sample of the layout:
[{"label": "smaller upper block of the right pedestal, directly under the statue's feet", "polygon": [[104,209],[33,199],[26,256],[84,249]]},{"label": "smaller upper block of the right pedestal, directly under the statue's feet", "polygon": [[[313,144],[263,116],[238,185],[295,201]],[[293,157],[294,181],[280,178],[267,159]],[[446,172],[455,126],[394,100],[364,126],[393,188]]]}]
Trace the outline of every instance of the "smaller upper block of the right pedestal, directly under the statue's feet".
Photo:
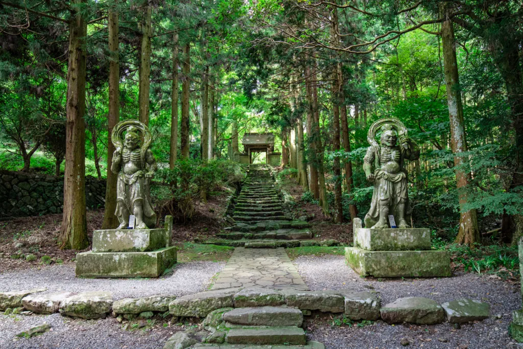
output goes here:
[{"label": "smaller upper block of the right pedestal, directly under the statue's feet", "polygon": [[369,251],[430,250],[430,230],[359,228],[354,231],[354,245]]}]

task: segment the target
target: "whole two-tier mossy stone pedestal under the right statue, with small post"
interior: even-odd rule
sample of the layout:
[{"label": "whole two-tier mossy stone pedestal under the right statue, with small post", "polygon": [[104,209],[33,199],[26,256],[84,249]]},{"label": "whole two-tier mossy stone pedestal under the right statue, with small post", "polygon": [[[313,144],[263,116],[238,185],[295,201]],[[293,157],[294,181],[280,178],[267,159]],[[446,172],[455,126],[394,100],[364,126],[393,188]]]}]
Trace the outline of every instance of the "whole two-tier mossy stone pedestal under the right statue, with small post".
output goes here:
[{"label": "whole two-tier mossy stone pedestal under the right statue, with small post", "polygon": [[353,223],[354,246],[345,247],[345,260],[361,276],[450,276],[450,256],[430,250],[430,231],[416,229],[361,228]]}]

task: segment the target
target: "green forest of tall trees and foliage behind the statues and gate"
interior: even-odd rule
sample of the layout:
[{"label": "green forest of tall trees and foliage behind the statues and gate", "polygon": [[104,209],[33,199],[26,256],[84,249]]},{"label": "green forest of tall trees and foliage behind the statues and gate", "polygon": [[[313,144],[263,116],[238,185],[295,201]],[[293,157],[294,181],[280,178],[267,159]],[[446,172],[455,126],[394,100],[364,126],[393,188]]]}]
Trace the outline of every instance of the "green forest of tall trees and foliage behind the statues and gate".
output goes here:
[{"label": "green forest of tall trees and foliage behind the statues and gate", "polygon": [[148,123],[179,202],[190,183],[206,199],[244,133],[273,132],[304,198],[347,222],[370,205],[367,130],[396,117],[422,151],[407,164],[416,226],[466,244],[501,228],[510,243],[521,18],[521,1],[0,0],[0,164],[65,176],[60,243],[83,249],[85,175],[107,177],[115,225],[119,120]]}]

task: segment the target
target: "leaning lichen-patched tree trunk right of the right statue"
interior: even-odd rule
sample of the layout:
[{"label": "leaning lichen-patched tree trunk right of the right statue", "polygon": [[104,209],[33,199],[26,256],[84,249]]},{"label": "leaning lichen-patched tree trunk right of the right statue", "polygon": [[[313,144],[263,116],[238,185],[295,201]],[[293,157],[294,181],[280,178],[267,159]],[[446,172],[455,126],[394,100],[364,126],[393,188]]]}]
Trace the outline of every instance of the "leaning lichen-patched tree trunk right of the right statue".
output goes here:
[{"label": "leaning lichen-patched tree trunk right of the right statue", "polygon": [[[467,139],[465,138],[463,107],[461,104],[456,43],[454,42],[452,21],[448,18],[448,12],[445,7],[442,8],[442,13],[446,17],[446,20],[441,25],[441,39],[445,67],[445,83],[447,84],[447,103],[449,105],[451,149],[454,154],[459,154],[467,151]],[[470,176],[470,173],[465,173],[459,168],[463,162],[464,159],[462,156],[454,156],[460,207],[467,204],[466,190]],[[477,226],[476,210],[461,212],[459,231],[455,242],[468,245],[476,242],[481,243],[481,235]]]}]

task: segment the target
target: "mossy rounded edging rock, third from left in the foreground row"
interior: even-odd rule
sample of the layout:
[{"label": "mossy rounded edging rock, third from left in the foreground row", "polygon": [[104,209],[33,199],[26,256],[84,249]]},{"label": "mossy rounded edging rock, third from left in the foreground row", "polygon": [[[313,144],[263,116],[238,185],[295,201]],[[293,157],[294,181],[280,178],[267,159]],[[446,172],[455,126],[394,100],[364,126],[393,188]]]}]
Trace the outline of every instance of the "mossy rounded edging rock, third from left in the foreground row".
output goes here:
[{"label": "mossy rounded edging rock, third from left in the foreground row", "polygon": [[111,311],[112,296],[108,292],[83,292],[60,303],[62,315],[83,319],[105,319]]}]

